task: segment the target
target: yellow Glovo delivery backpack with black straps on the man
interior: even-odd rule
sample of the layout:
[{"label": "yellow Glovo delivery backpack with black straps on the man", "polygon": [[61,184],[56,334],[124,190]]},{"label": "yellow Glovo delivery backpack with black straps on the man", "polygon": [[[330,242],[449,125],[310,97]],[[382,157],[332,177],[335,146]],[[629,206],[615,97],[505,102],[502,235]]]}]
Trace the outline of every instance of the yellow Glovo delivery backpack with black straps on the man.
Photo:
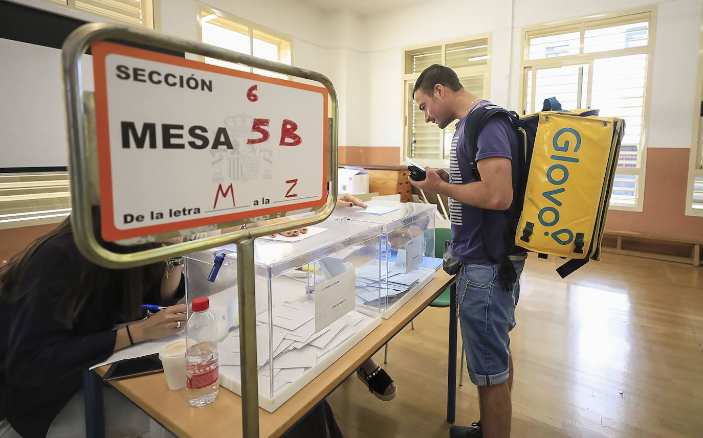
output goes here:
[{"label": "yellow Glovo delivery backpack with black straps on the man", "polygon": [[[503,114],[498,116],[497,114]],[[518,116],[501,107],[479,107],[467,119],[464,144],[477,180],[478,134],[491,117],[510,117],[522,142],[515,201],[505,211],[510,223],[503,251],[501,283],[515,268],[509,256],[534,251],[541,258],[569,258],[557,269],[562,278],[588,260],[600,259],[600,241],[625,131],[623,119],[598,117],[598,110],[562,110],[556,98],[541,112]],[[514,237],[513,237],[514,236]],[[514,245],[514,246],[513,246]],[[524,248],[524,249],[520,249]],[[512,274],[512,275],[511,275]]]}]

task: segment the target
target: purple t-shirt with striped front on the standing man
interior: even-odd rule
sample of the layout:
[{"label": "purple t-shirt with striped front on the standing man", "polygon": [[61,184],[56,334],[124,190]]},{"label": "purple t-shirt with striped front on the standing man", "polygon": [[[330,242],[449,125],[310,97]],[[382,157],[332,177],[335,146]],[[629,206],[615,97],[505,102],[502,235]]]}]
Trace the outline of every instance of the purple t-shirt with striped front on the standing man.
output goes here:
[{"label": "purple t-shirt with striped front on the standing man", "polygon": [[[487,105],[495,104],[482,100],[472,112],[479,106]],[[456,133],[451,142],[451,184],[476,182],[471,172],[468,147],[464,145],[464,125],[467,117],[468,114],[457,122]],[[476,159],[505,157],[514,161],[513,157],[518,157],[517,147],[515,128],[507,117],[496,115],[486,121],[479,134]],[[512,166],[512,180],[517,180],[517,166]],[[499,263],[497,260],[500,260],[505,251],[505,233],[508,230],[508,221],[503,211],[486,210],[449,198],[449,218],[452,234],[450,249],[454,258],[463,263]]]}]

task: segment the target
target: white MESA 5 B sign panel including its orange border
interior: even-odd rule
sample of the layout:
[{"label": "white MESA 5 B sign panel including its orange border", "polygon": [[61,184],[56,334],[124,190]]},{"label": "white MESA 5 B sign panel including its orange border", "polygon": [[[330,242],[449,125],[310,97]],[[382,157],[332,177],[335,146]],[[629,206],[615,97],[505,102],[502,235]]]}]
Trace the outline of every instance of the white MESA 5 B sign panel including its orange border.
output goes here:
[{"label": "white MESA 5 B sign panel including its orange border", "polygon": [[325,204],[325,88],[93,44],[103,237]]}]

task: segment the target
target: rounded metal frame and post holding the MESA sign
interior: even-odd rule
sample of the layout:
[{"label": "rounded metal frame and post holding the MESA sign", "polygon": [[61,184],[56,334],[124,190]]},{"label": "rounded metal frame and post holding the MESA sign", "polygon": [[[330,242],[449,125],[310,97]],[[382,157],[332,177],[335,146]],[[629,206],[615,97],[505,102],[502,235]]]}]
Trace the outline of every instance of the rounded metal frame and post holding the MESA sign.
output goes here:
[{"label": "rounded metal frame and post holding the MESA sign", "polygon": [[[100,204],[91,187],[96,183],[96,161],[91,157],[89,148],[89,134],[94,135],[94,126],[91,124],[93,114],[86,110],[92,105],[86,99],[82,84],[81,55],[95,41],[117,39],[131,41],[138,44],[147,44],[158,48],[167,48],[174,51],[195,53],[208,58],[217,58],[229,62],[266,69],[271,72],[287,74],[302,79],[323,84],[332,100],[332,117],[330,120],[330,142],[328,159],[328,199],[323,208],[318,208],[314,215],[306,218],[293,219],[283,223],[264,225],[260,227],[238,230],[220,236],[206,237],[181,244],[153,248],[147,251],[121,254],[109,251],[101,246],[96,239],[93,229],[91,208]],[[71,225],[74,239],[79,251],[94,263],[111,268],[127,268],[147,263],[165,260],[172,255],[193,253],[214,246],[236,243],[237,245],[237,270],[239,290],[240,314],[240,351],[242,356],[242,423],[245,437],[259,437],[259,390],[257,378],[257,341],[256,341],[256,315],[254,303],[254,239],[276,234],[285,230],[306,227],[320,223],[328,218],[335,208],[337,201],[337,132],[338,132],[338,100],[337,92],[327,77],[318,72],[292,67],[254,58],[228,51],[224,48],[210,46],[195,41],[181,39],[176,36],[160,34],[150,29],[132,27],[129,25],[114,25],[108,23],[89,23],[75,29],[65,40],[61,52],[63,71],[63,86],[65,91],[66,124],[68,145],[70,151],[69,171],[71,180],[71,199],[73,211]],[[92,129],[92,131],[90,131]],[[92,196],[91,196],[92,195]],[[295,210],[295,208],[293,209]],[[242,223],[217,224],[217,227],[226,227]],[[215,224],[214,224],[215,225]],[[157,234],[158,237],[177,236],[175,232]],[[150,236],[148,238],[153,238]],[[183,401],[185,402],[185,401]]]}]

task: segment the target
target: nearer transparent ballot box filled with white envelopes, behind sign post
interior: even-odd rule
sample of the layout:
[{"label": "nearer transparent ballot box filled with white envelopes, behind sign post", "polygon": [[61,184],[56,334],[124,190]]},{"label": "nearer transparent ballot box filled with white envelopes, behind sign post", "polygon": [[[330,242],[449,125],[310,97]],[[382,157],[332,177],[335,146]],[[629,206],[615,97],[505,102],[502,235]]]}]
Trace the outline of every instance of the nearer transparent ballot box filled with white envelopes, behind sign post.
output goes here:
[{"label": "nearer transparent ballot box filled with white envelopes, behind sign post", "polygon": [[[259,406],[269,412],[381,322],[381,227],[328,220],[307,228],[299,237],[254,241]],[[207,296],[215,315],[220,384],[241,394],[236,246],[186,255],[185,269],[188,303]],[[375,286],[365,289],[373,302],[356,300],[359,270],[375,272]]]}]

